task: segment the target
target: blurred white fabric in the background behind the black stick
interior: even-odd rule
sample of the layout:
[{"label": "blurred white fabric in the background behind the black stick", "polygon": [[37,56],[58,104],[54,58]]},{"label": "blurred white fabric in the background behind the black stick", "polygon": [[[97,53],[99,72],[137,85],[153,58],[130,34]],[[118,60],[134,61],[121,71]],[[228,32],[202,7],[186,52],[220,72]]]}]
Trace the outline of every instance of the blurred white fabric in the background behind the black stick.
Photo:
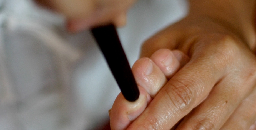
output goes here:
[{"label": "blurred white fabric in the background behind the black stick", "polygon": [[[140,0],[118,29],[130,65],[141,43],[184,17],[185,0]],[[0,0],[0,129],[83,130],[108,118],[120,90],[89,31],[31,0]]]}]

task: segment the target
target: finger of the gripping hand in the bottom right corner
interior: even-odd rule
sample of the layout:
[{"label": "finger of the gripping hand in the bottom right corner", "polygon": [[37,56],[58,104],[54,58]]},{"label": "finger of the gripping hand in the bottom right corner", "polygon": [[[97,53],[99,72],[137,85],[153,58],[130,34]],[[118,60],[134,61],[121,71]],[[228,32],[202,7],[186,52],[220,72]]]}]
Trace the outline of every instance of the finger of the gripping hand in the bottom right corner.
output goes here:
[{"label": "finger of the gripping hand in the bottom right corner", "polygon": [[242,101],[239,107],[235,110],[230,118],[222,126],[221,130],[234,129],[234,130],[255,130],[254,122],[256,121],[256,89]]}]

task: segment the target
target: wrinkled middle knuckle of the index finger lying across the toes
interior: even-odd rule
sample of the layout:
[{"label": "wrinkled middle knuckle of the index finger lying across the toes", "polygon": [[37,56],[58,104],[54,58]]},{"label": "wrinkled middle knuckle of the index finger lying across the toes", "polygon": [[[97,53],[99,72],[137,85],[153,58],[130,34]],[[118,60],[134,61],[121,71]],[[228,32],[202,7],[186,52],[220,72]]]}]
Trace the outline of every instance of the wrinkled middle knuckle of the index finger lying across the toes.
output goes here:
[{"label": "wrinkled middle knuckle of the index finger lying across the toes", "polygon": [[176,107],[177,110],[175,111],[187,111],[188,109],[192,108],[192,105],[194,105],[196,100],[196,92],[192,91],[192,89],[189,87],[189,84],[191,83],[188,81],[183,83],[175,80],[174,82],[175,84],[172,84],[172,86],[169,87],[170,89],[165,90],[167,96]]}]

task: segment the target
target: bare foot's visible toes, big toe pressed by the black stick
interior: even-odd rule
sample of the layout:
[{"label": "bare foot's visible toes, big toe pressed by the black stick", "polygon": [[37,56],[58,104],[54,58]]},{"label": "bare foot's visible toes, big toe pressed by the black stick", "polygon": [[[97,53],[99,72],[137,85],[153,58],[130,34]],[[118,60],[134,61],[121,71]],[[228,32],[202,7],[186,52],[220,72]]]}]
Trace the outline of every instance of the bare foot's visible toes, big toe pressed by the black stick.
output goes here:
[{"label": "bare foot's visible toes, big toe pressed by the black stick", "polygon": [[122,93],[117,96],[110,111],[111,129],[126,129],[145,110],[167,81],[188,61],[187,55],[168,49],[160,49],[150,58],[137,60],[132,72],[139,86],[139,99],[129,102]]}]

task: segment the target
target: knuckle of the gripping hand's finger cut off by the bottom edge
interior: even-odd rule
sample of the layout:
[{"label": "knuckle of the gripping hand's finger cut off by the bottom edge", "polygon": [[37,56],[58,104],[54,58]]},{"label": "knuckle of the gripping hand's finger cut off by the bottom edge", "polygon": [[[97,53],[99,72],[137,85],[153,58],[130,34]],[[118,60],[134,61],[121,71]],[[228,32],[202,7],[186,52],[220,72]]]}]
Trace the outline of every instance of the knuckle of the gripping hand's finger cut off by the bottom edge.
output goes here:
[{"label": "knuckle of the gripping hand's finger cut off by the bottom edge", "polygon": [[194,130],[213,130],[215,129],[213,120],[204,118],[203,120],[195,122]]}]

